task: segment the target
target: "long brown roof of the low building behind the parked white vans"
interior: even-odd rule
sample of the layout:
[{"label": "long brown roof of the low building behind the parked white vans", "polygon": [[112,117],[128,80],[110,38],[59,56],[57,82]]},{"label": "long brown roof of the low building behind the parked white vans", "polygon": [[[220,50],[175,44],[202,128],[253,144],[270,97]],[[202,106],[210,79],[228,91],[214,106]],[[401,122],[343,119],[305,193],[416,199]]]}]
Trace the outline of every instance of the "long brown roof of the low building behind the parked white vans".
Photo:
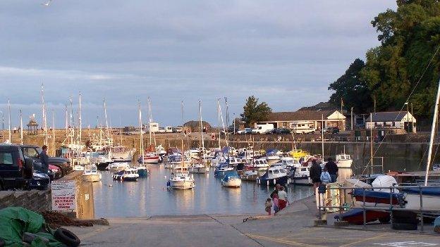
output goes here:
[{"label": "long brown roof of the low building behind the parked white vans", "polygon": [[302,121],[302,120],[321,120],[334,113],[336,110],[298,110],[294,112],[269,113],[267,121]]}]

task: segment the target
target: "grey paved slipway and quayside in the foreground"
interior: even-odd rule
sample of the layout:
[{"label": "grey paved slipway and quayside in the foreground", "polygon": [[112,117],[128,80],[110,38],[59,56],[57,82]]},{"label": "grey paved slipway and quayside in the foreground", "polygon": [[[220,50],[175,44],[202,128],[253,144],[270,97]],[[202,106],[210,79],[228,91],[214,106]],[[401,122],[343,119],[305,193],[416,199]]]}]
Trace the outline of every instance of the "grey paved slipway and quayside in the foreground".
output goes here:
[{"label": "grey paved slipway and quayside in the foreground", "polygon": [[[313,199],[290,205],[279,215],[178,215],[109,219],[110,226],[70,227],[82,246],[440,246],[427,230],[376,227],[312,227]],[[243,222],[244,221],[244,222]],[[384,227],[385,226],[385,227]]]}]

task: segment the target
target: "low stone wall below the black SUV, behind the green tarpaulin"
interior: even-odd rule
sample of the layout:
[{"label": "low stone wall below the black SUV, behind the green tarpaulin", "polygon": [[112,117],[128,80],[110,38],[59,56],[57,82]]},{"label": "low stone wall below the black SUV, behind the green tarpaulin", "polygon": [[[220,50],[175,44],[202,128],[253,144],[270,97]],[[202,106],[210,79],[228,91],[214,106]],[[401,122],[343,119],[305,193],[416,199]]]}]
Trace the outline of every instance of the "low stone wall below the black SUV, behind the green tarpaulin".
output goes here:
[{"label": "low stone wall below the black SUV, behind the green tarpaulin", "polygon": [[23,207],[35,212],[51,210],[51,190],[0,191],[0,209]]}]

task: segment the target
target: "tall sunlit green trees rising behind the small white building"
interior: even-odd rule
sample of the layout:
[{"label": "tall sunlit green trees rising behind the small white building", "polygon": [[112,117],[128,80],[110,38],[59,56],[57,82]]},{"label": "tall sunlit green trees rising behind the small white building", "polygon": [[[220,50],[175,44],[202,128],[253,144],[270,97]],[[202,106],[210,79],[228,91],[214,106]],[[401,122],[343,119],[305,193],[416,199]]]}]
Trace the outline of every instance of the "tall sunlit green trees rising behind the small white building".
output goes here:
[{"label": "tall sunlit green trees rising behind the small white building", "polygon": [[381,45],[367,51],[360,75],[377,110],[400,110],[414,90],[409,101],[415,114],[429,117],[440,76],[440,58],[434,56],[440,45],[440,1],[398,0],[397,6],[372,20]]}]

